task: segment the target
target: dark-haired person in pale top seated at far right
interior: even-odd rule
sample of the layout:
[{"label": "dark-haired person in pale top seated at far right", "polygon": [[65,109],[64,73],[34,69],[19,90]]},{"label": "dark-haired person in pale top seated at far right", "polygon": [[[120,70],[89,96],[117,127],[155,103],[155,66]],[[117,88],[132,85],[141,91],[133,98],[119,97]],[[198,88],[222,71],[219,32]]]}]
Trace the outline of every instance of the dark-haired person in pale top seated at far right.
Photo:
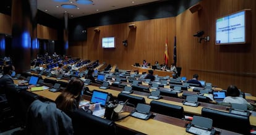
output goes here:
[{"label": "dark-haired person in pale top seated at far right", "polygon": [[[228,104],[227,104],[228,103]],[[223,99],[223,102],[220,102],[220,105],[230,105],[234,104],[246,104],[248,110],[254,110],[254,107],[250,105],[246,99],[240,97],[240,91],[236,86],[230,85],[227,89],[226,97]]]}]

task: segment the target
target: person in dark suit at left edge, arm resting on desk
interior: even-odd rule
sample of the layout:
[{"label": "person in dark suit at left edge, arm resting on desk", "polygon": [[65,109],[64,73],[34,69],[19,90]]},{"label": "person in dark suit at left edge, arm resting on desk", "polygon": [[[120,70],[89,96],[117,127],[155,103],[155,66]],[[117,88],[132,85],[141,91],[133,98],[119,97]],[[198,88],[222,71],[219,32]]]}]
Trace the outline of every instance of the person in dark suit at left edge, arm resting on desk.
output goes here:
[{"label": "person in dark suit at left edge, arm resting on desk", "polygon": [[20,85],[14,84],[14,80],[12,80],[12,77],[11,77],[12,72],[15,72],[14,65],[5,65],[4,66],[4,75],[0,79],[0,93],[1,94],[4,94],[4,91],[7,91],[7,89],[15,89],[17,91],[20,91],[20,90],[26,90],[26,89],[35,87],[35,85],[20,86]]}]

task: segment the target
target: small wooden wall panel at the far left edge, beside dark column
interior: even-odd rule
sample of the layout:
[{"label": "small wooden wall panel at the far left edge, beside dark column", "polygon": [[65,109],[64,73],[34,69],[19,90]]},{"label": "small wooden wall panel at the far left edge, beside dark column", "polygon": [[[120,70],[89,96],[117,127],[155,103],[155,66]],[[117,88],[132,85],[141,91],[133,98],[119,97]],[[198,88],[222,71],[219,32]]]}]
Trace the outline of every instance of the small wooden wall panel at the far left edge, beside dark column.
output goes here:
[{"label": "small wooden wall panel at the far left edge, beside dark column", "polygon": [[0,13],[0,33],[12,35],[11,17]]}]

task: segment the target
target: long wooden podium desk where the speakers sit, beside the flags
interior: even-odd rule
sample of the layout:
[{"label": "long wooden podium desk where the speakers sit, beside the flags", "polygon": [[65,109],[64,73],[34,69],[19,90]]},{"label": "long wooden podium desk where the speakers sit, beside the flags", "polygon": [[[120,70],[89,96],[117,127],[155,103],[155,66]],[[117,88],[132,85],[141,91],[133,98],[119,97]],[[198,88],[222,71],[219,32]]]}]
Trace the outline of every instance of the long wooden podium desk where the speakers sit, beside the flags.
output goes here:
[{"label": "long wooden podium desk where the speakers sit, beside the flags", "polygon": [[[143,67],[136,67],[134,65],[132,65],[132,70],[138,70],[139,73],[142,72],[146,72],[148,73],[148,70],[153,70],[152,68],[143,68]],[[154,71],[154,75],[158,75],[158,76],[173,76],[173,72],[165,72],[163,70],[153,70]]]}]

